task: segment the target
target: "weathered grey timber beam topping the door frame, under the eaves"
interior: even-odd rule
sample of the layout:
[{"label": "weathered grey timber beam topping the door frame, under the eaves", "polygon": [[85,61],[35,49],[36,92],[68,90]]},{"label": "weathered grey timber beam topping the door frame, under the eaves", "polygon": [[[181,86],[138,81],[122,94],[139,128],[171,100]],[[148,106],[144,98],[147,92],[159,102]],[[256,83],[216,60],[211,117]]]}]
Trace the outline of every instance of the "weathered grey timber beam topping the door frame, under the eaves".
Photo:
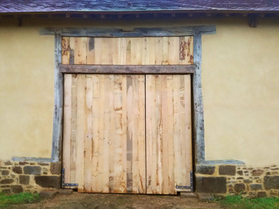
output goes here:
[{"label": "weathered grey timber beam topping the door frame, under the eaves", "polygon": [[183,26],[161,28],[135,28],[126,31],[115,28],[46,28],[40,35],[83,36],[83,37],[161,37],[161,36],[195,36],[216,33],[216,26]]}]

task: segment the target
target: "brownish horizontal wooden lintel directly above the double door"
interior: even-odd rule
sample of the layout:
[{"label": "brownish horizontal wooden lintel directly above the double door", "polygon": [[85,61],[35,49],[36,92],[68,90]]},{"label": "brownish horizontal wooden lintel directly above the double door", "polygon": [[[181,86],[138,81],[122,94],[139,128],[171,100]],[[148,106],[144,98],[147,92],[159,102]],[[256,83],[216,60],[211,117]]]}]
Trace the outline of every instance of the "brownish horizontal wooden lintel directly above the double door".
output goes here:
[{"label": "brownish horizontal wooden lintel directly above the double door", "polygon": [[92,74],[188,74],[195,65],[60,65],[62,73]]}]

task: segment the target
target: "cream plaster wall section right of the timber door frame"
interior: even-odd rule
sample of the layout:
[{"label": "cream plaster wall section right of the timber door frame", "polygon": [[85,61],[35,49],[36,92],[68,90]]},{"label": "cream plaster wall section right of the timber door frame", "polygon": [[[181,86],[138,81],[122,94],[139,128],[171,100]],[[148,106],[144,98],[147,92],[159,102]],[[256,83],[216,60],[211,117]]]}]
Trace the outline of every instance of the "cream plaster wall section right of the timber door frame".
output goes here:
[{"label": "cream plaster wall section right of the timber door frame", "polygon": [[202,40],[206,160],[279,164],[279,20]]}]

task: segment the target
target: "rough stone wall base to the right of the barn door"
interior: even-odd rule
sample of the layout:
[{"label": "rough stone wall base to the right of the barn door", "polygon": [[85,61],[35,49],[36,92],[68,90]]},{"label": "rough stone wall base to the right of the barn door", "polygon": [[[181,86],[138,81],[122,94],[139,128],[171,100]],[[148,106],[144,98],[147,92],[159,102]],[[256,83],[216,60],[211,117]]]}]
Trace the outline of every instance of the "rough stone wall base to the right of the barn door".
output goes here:
[{"label": "rough stone wall base to the right of the barn door", "polygon": [[279,166],[248,167],[231,164],[198,164],[195,171],[197,193],[245,197],[279,196]]}]

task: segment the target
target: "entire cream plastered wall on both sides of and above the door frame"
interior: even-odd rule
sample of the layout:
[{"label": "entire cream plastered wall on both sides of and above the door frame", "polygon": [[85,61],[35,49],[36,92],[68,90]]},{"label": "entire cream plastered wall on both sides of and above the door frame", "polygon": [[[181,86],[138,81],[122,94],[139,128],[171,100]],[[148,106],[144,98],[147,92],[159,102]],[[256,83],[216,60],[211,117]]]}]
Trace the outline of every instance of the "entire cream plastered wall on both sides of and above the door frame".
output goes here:
[{"label": "entire cream plastered wall on both sides of and above the door frame", "polygon": [[0,20],[0,160],[50,157],[54,38],[44,26],[185,26],[216,24],[202,38],[206,160],[279,164],[279,21]]}]

